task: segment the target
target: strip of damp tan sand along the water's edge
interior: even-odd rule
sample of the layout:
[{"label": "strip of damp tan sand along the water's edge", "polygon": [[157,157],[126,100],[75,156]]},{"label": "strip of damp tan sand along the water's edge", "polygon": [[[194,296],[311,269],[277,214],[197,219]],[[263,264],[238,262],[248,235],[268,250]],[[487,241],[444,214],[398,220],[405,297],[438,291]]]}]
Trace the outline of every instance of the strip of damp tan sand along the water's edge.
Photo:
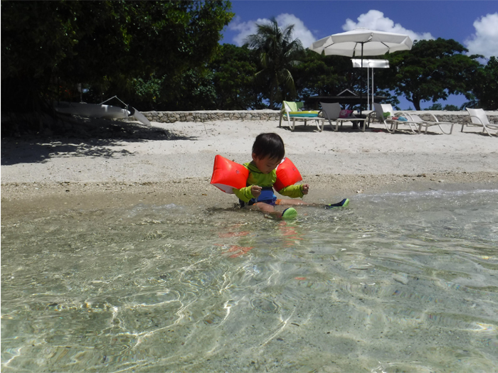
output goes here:
[{"label": "strip of damp tan sand along the water's edge", "polygon": [[[144,205],[198,205],[231,208],[235,195],[209,184],[210,178],[164,182],[2,183],[1,215],[4,221],[38,218],[75,210],[132,208]],[[431,190],[497,189],[498,173],[425,173],[413,175],[303,175],[310,184],[308,202],[354,201],[356,195],[423,193]],[[278,196],[278,195],[277,195]]]}]

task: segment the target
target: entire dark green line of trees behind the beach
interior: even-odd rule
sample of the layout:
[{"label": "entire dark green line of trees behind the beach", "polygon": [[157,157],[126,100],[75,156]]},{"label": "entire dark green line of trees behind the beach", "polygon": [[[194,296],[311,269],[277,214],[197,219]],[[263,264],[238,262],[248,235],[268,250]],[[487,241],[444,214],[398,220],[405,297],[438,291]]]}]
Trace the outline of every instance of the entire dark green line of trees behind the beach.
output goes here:
[{"label": "entire dark green line of trees behind the beach", "polygon": [[[201,0],[2,1],[2,110],[37,111],[43,102],[78,101],[80,94],[93,103],[118,95],[146,111],[274,109],[284,99],[359,93],[361,69],[350,58],[303,50],[292,38],[293,26],[280,27],[275,19],[258,25],[243,47],[219,45],[233,17],[230,6]],[[465,94],[484,109],[497,109],[497,58],[483,66],[466,51],[455,40],[438,39],[387,54],[391,68],[376,70],[376,94],[394,106],[404,96],[415,109]]]}]

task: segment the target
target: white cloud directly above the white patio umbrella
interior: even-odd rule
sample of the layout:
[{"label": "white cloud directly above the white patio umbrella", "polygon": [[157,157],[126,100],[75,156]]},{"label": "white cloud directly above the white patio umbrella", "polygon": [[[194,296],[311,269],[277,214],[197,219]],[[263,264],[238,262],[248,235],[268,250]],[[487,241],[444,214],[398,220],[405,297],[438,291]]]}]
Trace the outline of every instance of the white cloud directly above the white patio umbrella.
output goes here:
[{"label": "white cloud directly above the white patio umbrella", "polygon": [[347,18],[346,23],[342,25],[344,31],[351,31],[355,28],[363,27],[375,31],[386,31],[391,33],[402,33],[410,36],[414,40],[428,40],[434,37],[430,33],[415,33],[415,31],[407,30],[400,23],[394,23],[390,18],[384,17],[381,11],[370,10],[368,13],[361,14],[357,18],[358,22]]}]

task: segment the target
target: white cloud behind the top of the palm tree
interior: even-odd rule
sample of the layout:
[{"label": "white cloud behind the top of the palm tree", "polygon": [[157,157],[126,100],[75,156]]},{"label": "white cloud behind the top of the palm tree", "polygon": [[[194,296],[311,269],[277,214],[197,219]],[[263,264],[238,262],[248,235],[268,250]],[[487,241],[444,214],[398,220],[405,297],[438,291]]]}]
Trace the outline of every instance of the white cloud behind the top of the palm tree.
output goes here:
[{"label": "white cloud behind the top of the palm tree", "polygon": [[[292,33],[292,38],[300,39],[302,46],[308,48],[312,43],[317,40],[314,38],[311,31],[308,30],[304,23],[297,18],[294,14],[282,13],[275,17],[278,26],[280,28],[285,28],[287,25],[294,25],[294,32]],[[256,24],[270,23],[267,18],[258,18],[256,21],[240,22],[240,17],[236,17],[228,25],[233,31],[238,31],[238,34],[233,37],[233,42],[235,45],[243,45],[245,38],[249,35],[256,33]]]}]

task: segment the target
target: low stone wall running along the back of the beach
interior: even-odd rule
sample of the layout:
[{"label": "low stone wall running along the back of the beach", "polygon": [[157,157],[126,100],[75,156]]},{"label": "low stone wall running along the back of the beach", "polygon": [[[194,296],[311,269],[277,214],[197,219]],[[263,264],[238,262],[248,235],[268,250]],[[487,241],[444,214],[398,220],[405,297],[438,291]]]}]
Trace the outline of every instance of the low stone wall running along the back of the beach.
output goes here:
[{"label": "low stone wall running along the back of the beach", "polygon": [[[467,112],[410,112],[420,118],[432,121],[432,113],[439,121],[449,121],[457,124],[470,123]],[[238,111],[204,111],[204,112],[142,112],[149,121],[159,123],[174,123],[175,121],[277,121],[278,110],[238,110]],[[486,112],[489,122],[498,124],[498,112]]]}]

